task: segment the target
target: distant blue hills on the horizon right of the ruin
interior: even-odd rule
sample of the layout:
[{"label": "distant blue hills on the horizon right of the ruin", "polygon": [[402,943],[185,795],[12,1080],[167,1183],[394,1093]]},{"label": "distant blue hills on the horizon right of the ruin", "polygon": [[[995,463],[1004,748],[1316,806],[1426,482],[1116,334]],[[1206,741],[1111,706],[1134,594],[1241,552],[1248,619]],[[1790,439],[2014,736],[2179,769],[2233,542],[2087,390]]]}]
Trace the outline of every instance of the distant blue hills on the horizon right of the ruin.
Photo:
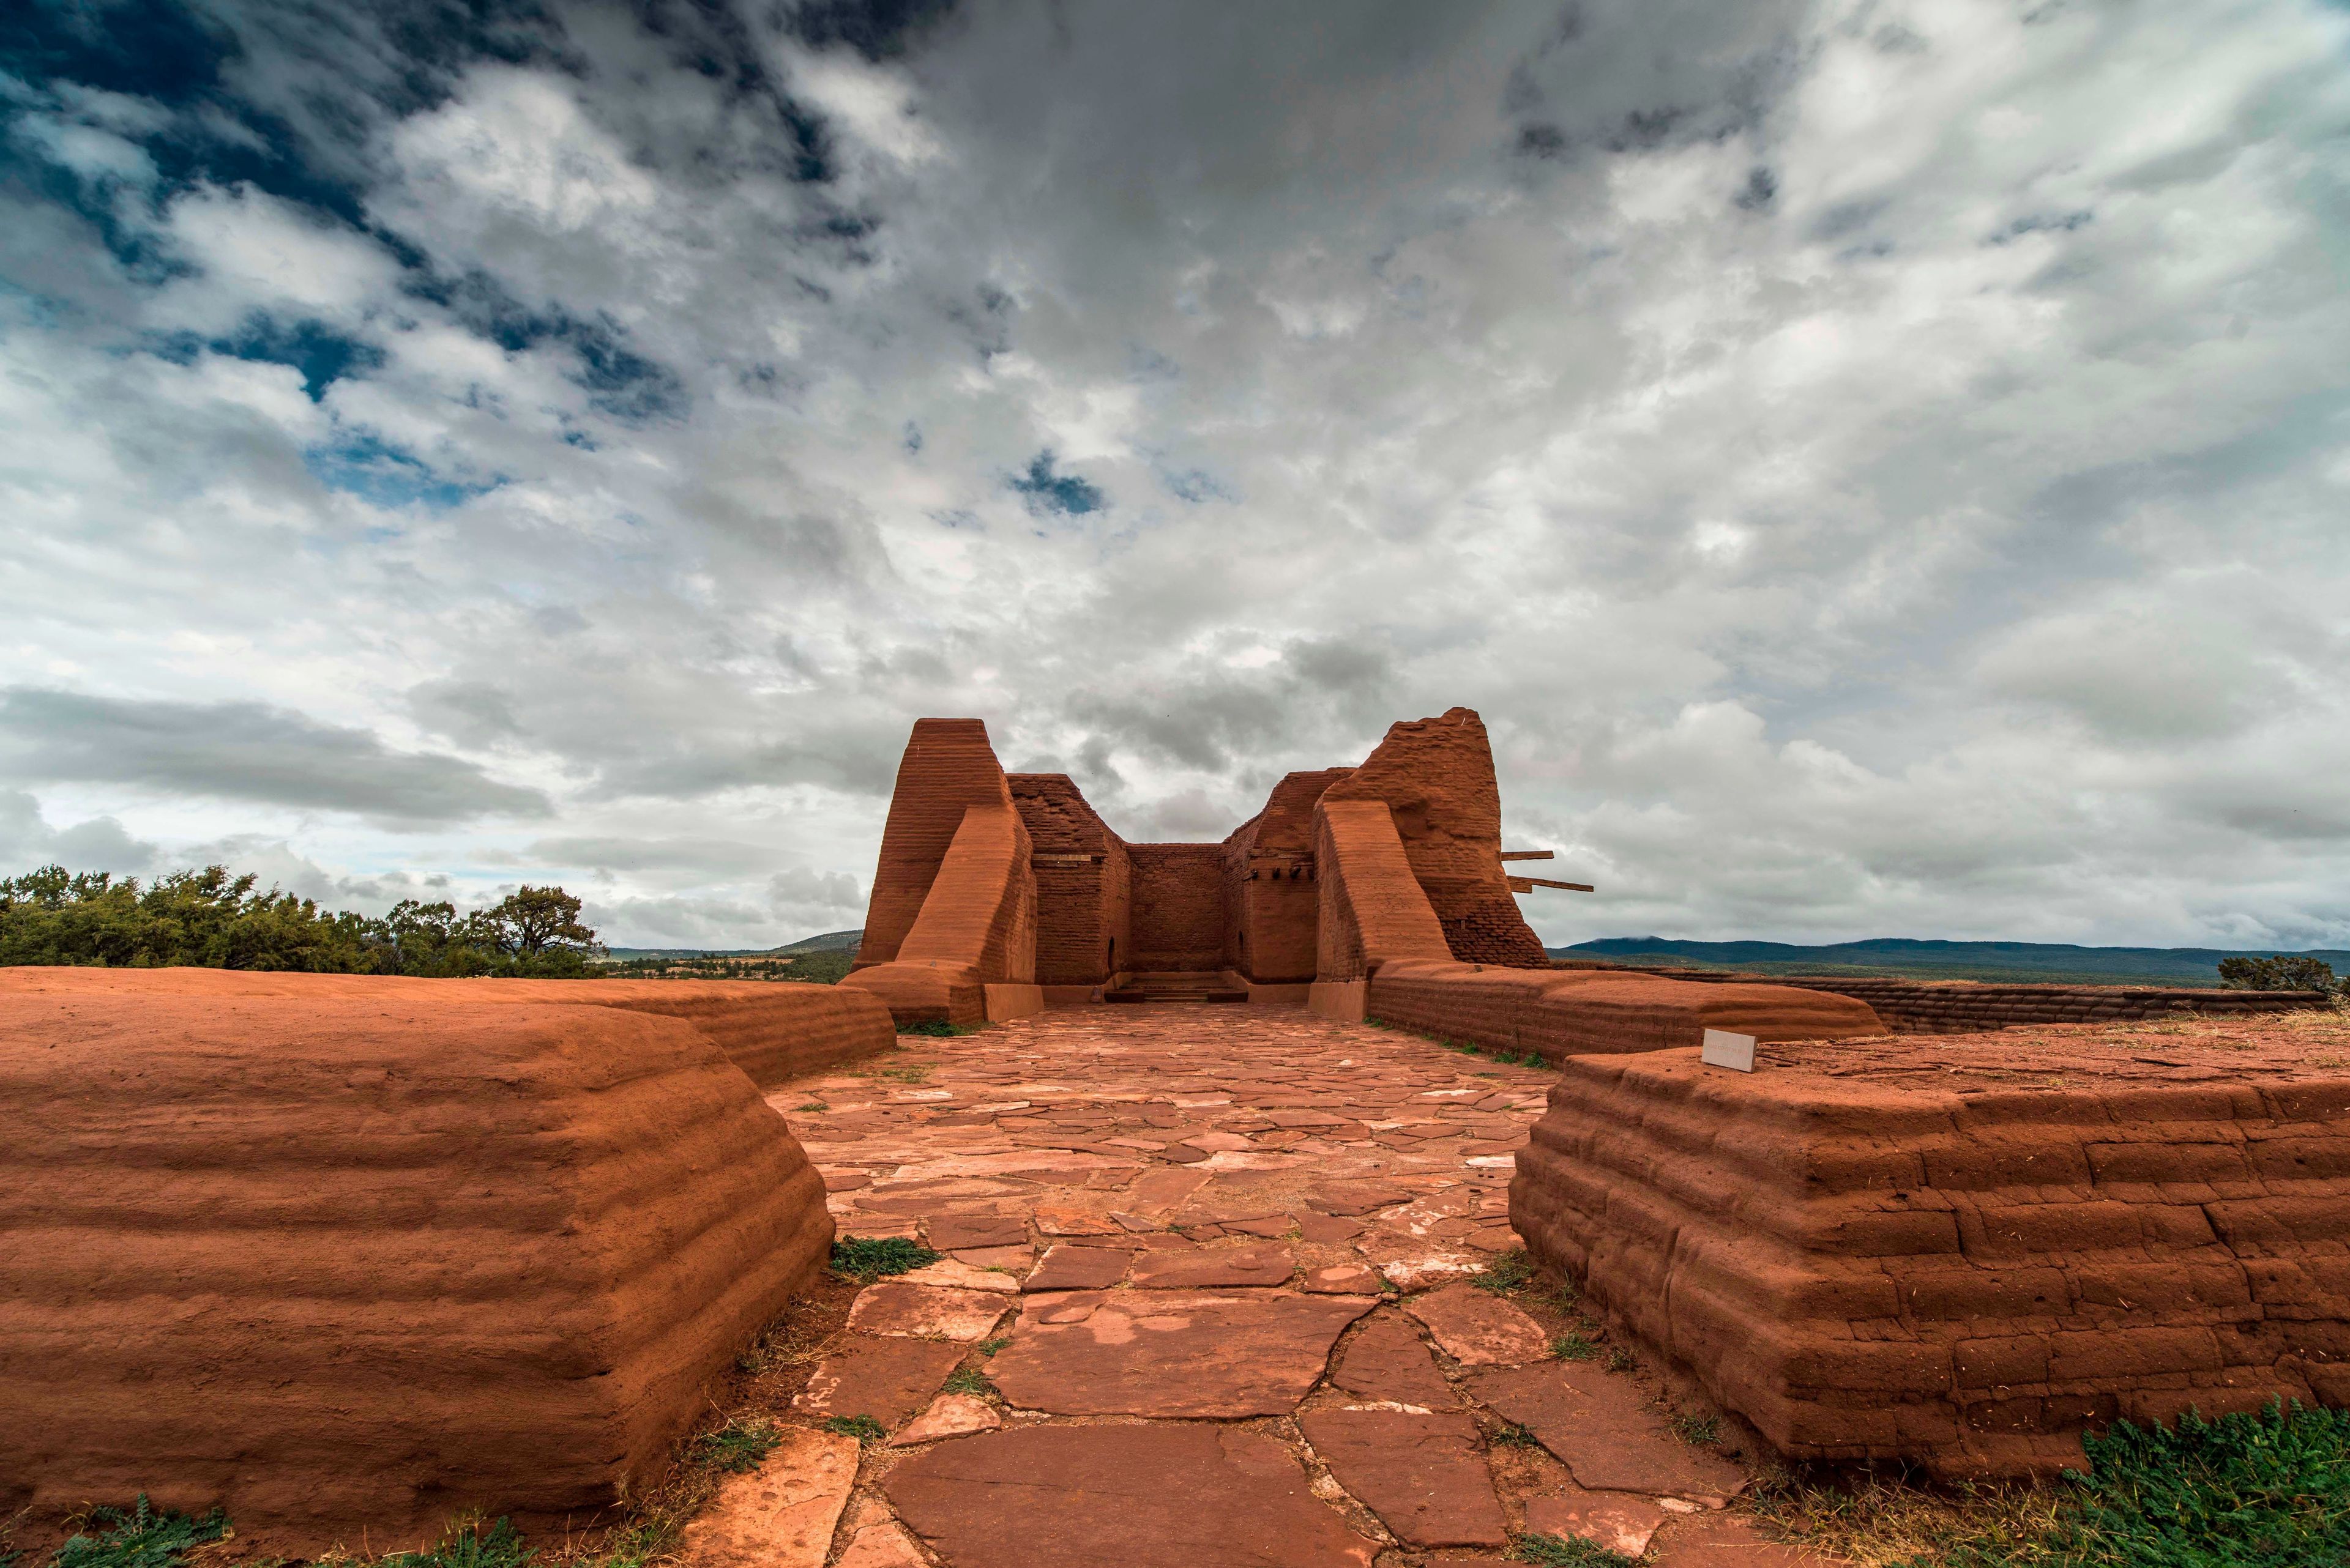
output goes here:
[{"label": "distant blue hills on the horizon right of the ruin", "polygon": [[[2218,961],[2270,957],[2275,947],[2073,947],[2070,943],[1941,943],[1878,936],[1866,943],[1683,943],[1664,936],[1605,936],[1551,947],[1553,959],[1690,964],[1753,973],[1911,976],[1925,980],[2040,980],[2044,985],[2218,985]],[[2305,957],[2350,973],[2350,952]]]}]

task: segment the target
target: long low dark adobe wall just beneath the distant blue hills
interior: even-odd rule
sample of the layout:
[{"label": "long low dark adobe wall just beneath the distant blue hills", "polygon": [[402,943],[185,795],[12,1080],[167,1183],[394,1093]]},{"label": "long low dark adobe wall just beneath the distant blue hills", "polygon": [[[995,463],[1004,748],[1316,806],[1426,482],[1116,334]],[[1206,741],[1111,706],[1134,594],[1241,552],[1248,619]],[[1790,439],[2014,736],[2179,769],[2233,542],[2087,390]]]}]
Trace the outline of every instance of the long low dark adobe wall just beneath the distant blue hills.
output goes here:
[{"label": "long low dark adobe wall just beneath the distant blue hills", "polygon": [[2108,1023],[2171,1013],[2287,1013],[2322,1006],[2322,992],[2244,992],[2197,985],[2023,985],[1856,976],[1741,976],[1697,969],[1638,969],[1699,985],[1802,985],[1859,997],[1901,1034],[1976,1034],[2019,1023]]}]

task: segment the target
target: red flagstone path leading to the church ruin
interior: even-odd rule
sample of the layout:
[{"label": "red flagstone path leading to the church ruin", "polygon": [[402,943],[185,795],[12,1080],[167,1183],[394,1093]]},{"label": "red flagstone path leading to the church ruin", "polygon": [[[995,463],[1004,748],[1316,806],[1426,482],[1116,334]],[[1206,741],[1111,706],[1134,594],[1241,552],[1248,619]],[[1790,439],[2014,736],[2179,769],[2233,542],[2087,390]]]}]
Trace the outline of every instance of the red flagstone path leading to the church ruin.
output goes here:
[{"label": "red flagstone path leading to the church ruin", "polygon": [[[947,1260],[858,1295],[808,1436],[721,1488],[693,1568],[1466,1568],[1523,1533],[1826,1563],[1633,1375],[1553,1361],[1553,1307],[1464,1284],[1516,1246],[1553,1074],[1243,1006],[900,1046],[771,1103],[844,1237]],[[848,1467],[827,1418],[884,1436]]]}]

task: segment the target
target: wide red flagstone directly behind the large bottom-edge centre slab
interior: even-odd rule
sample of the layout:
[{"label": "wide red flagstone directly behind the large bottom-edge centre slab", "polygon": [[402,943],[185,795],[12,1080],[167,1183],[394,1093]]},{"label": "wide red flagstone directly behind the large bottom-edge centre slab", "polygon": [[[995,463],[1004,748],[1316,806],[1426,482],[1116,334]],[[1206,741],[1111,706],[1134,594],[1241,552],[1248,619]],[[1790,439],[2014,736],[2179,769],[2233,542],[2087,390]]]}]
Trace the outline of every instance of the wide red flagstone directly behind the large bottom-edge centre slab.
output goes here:
[{"label": "wide red flagstone directly behind the large bottom-edge centre slab", "polygon": [[1288,1415],[1370,1307],[1288,1291],[1032,1295],[989,1378],[1013,1406],[1053,1415]]}]

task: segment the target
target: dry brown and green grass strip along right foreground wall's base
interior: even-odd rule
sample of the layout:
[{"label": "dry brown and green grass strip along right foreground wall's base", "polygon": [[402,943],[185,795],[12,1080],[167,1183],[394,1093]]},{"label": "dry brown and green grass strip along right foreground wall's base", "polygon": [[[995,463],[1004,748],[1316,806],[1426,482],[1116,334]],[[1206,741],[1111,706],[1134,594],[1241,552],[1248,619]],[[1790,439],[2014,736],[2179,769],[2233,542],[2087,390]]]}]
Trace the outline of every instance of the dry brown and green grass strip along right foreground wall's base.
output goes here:
[{"label": "dry brown and green grass strip along right foreground wall's base", "polygon": [[2089,1474],[1955,1495],[1765,1481],[1755,1512],[1854,1568],[2317,1568],[2350,1563],[2350,1410],[2270,1403],[2084,1436]]}]

